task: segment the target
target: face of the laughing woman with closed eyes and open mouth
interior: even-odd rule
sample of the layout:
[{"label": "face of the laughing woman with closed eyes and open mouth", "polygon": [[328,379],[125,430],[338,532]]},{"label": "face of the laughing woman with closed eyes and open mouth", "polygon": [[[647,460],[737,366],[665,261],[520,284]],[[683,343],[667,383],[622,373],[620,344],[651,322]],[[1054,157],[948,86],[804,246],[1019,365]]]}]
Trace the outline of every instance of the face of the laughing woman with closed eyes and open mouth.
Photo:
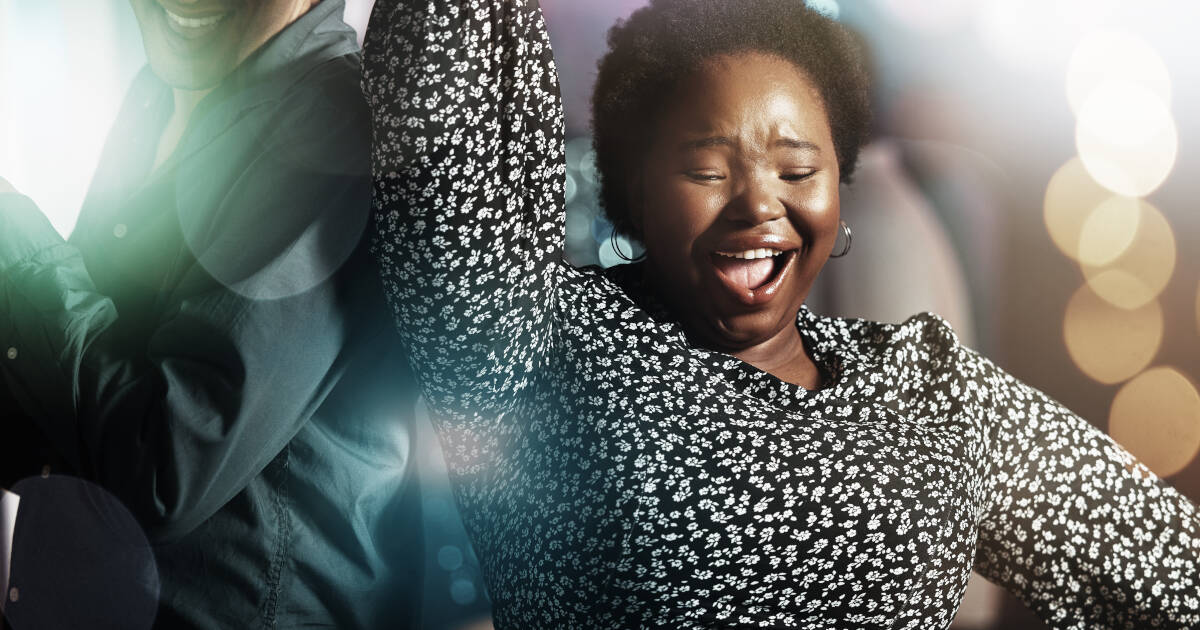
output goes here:
[{"label": "face of the laughing woman with closed eyes and open mouth", "polygon": [[714,349],[794,334],[839,224],[838,157],[816,86],[776,56],[720,55],[660,120],[631,204],[650,281]]}]

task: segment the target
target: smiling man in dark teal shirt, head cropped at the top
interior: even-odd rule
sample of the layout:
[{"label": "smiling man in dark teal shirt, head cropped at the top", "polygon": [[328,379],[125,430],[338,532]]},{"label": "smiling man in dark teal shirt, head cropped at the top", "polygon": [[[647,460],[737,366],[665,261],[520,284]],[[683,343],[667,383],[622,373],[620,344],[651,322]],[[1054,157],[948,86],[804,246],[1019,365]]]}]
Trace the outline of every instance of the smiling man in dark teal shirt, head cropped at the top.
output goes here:
[{"label": "smiling man in dark teal shirt, head cropped at the top", "polygon": [[149,68],[70,241],[0,181],[0,481],[28,476],[5,614],[415,625],[414,391],[342,2],[132,5]]}]

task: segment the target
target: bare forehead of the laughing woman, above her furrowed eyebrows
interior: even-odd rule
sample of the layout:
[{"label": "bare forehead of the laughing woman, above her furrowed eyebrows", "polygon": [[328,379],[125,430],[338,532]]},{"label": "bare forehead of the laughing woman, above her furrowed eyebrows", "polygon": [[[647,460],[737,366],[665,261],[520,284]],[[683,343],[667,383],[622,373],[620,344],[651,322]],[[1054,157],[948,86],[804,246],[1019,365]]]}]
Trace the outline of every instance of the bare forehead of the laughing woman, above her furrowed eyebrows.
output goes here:
[{"label": "bare forehead of the laughing woman, above her furrowed eyebrows", "polygon": [[763,53],[706,60],[679,85],[661,121],[668,134],[720,132],[752,140],[786,133],[832,142],[816,85],[791,61]]}]

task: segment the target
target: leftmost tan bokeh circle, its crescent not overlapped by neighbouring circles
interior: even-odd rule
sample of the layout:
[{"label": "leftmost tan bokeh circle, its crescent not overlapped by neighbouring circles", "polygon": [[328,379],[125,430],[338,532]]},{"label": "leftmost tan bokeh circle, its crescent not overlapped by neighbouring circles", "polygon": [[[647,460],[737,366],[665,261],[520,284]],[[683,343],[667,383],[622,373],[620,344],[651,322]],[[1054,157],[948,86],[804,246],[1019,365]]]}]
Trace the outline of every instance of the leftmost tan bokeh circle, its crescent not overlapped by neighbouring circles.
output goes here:
[{"label": "leftmost tan bokeh circle, its crescent not overlapped by neighbouring circles", "polygon": [[[1136,199],[1114,196],[1097,184],[1087,174],[1087,169],[1084,168],[1084,162],[1079,157],[1072,157],[1050,178],[1044,198],[1043,218],[1046,232],[1050,233],[1051,240],[1063,254],[1075,260],[1080,258],[1079,250],[1084,227],[1097,208],[1103,204],[1110,205],[1105,214],[1127,215],[1136,214],[1138,210]],[[1111,205],[1121,205],[1123,211],[1118,211]]]}]

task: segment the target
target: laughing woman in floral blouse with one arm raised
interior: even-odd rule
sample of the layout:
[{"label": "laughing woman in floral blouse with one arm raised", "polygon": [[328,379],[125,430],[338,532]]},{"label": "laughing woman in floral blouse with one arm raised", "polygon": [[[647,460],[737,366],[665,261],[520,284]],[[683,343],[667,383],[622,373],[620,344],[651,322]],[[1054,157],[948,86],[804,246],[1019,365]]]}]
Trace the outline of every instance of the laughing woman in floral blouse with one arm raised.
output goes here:
[{"label": "laughing woman in floral blouse with one arm raised", "polygon": [[498,628],[946,628],[973,568],[1060,628],[1200,624],[1196,509],[937,317],[803,306],[864,139],[799,1],[655,0],[610,36],[574,269],[534,2],[380,2],[376,254]]}]

